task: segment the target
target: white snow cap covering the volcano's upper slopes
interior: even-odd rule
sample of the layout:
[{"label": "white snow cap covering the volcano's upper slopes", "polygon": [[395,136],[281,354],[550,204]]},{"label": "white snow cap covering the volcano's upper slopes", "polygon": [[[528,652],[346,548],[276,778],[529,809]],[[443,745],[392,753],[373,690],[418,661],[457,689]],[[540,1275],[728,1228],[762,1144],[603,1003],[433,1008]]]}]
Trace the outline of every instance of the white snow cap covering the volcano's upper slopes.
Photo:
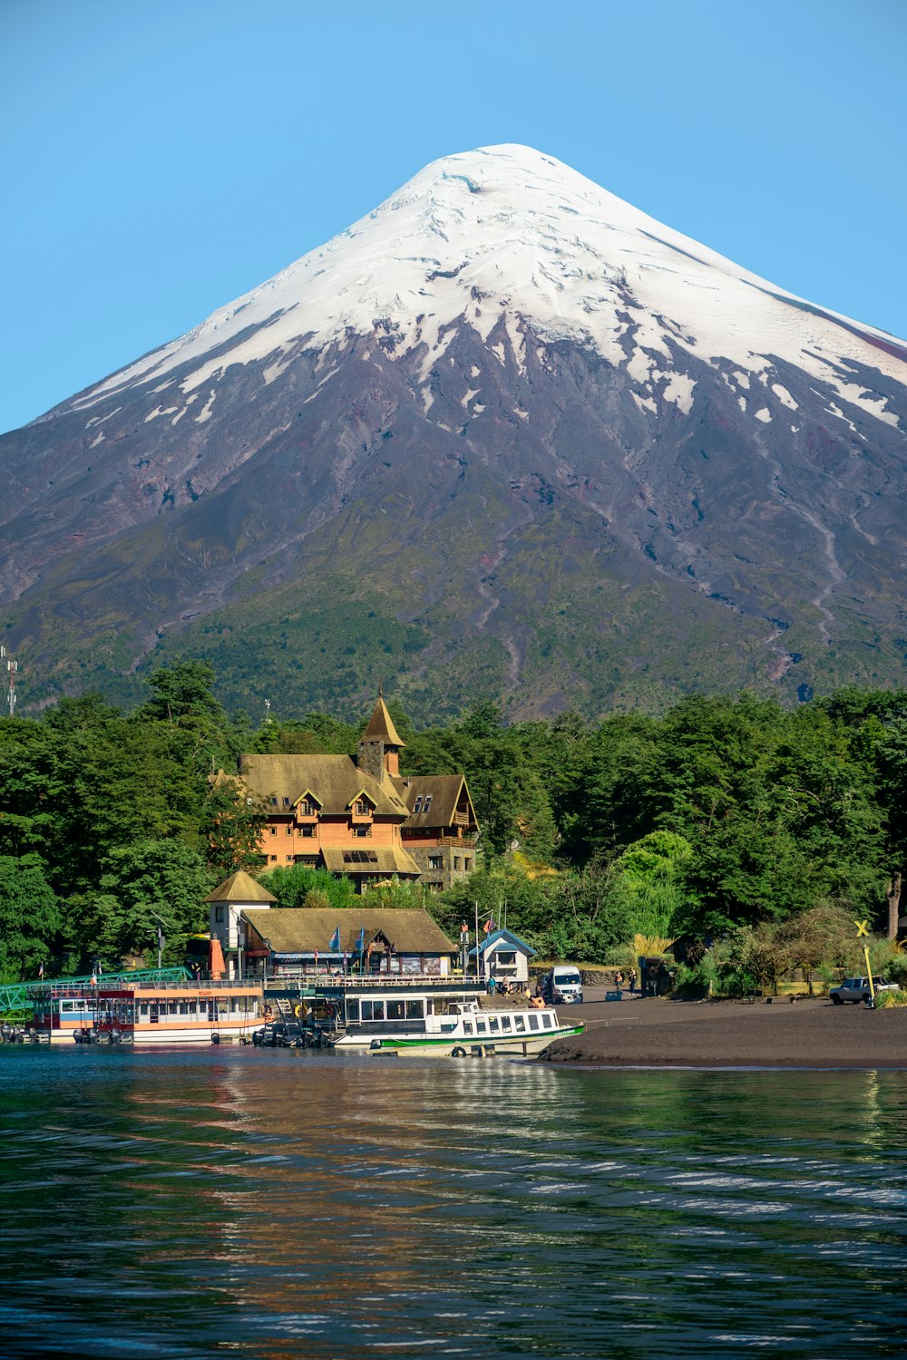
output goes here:
[{"label": "white snow cap covering the volcano's upper slopes", "polygon": [[[680,371],[683,351],[764,381],[774,358],[787,360],[892,424],[884,397],[847,369],[859,363],[907,379],[899,347],[883,332],[775,288],[553,156],[496,146],[426,166],[326,245],[73,405],[91,407],[182,364],[192,364],[179,384],[189,401],[235,363],[268,360],[269,382],[301,344],[369,336],[377,324],[393,329],[393,354],[423,347],[427,378],[458,325],[487,339],[502,316],[517,362],[529,325],[543,340],[571,339],[626,366],[642,404],[672,374],[661,396],[684,411],[694,382]],[[207,419],[211,400],[196,420]]]}]

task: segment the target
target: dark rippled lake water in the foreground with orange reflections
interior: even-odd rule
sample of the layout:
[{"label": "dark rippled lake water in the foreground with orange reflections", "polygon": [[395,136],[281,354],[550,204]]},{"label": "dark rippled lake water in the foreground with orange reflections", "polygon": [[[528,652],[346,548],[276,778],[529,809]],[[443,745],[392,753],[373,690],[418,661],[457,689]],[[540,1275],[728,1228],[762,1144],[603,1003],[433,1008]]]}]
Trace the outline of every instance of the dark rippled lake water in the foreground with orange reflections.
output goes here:
[{"label": "dark rippled lake water in the foreground with orange reflections", "polygon": [[907,1352],[907,1073],[0,1049],[5,1357]]}]

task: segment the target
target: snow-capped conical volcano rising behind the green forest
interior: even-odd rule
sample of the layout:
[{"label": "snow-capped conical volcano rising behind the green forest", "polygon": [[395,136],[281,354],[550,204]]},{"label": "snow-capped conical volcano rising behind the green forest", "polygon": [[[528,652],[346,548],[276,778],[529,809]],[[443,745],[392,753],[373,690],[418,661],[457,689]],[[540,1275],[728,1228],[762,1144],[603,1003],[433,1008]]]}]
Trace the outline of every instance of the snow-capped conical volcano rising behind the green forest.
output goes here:
[{"label": "snow-capped conical volcano rising behind the green forest", "polygon": [[434,162],[3,453],[45,692],[179,649],[284,711],[907,680],[907,347],[525,147]]}]

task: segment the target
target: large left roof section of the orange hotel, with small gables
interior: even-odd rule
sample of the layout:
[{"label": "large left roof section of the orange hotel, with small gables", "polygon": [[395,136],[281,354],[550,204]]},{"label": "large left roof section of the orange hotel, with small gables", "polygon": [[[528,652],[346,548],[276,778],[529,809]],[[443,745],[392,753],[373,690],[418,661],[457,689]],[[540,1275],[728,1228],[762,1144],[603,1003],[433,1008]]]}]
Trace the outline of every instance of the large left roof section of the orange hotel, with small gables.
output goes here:
[{"label": "large left roof section of the orange hotel, with small gables", "polygon": [[[280,812],[288,812],[303,793],[313,793],[322,816],[341,817],[363,792],[378,816],[405,817],[408,813],[397,789],[360,770],[351,756],[246,755],[242,756],[242,779],[249,793],[262,798],[265,805],[276,798]],[[284,798],[288,802],[284,804]]]}]

